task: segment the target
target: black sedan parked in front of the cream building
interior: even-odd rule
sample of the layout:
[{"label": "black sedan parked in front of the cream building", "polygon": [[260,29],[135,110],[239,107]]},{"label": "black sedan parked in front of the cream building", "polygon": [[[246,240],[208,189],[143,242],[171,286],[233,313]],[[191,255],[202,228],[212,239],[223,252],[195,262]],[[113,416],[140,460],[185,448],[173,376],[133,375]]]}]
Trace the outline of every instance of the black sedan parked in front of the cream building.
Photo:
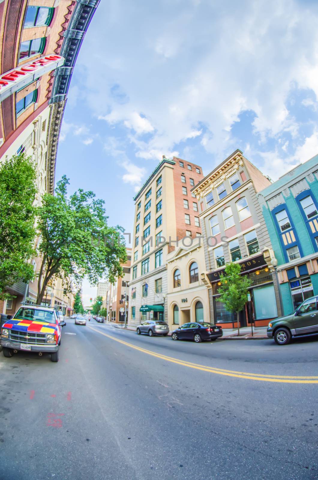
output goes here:
[{"label": "black sedan parked in front of the cream building", "polygon": [[202,340],[216,340],[222,335],[222,327],[207,322],[196,322],[195,324],[183,324],[173,330],[171,338],[172,340],[194,340],[199,343]]}]

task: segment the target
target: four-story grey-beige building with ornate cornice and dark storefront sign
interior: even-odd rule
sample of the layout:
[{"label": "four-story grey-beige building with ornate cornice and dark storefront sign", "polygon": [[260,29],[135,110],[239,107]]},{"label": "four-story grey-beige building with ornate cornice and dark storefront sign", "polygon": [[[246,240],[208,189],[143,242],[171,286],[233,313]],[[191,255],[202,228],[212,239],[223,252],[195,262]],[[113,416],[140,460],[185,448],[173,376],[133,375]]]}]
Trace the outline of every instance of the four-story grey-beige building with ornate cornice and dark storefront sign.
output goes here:
[{"label": "four-story grey-beige building with ornate cornice and dark storefront sign", "polygon": [[[271,181],[236,150],[192,189],[200,204],[212,287],[208,290],[210,321],[223,328],[237,326],[233,313],[218,300],[220,274],[229,262],[238,262],[251,281],[251,301],[240,312],[240,325],[250,325],[253,317],[257,326],[266,325],[280,314],[276,277],[263,255],[263,250],[271,248],[269,234],[257,200],[257,192],[269,185]],[[206,277],[204,272],[199,275]]]}]

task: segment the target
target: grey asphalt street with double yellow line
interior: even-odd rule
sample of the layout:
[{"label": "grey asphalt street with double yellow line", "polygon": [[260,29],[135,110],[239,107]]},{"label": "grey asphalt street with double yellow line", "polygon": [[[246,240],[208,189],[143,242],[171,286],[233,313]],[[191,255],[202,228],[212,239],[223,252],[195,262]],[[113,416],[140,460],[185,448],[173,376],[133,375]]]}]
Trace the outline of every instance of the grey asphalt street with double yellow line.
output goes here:
[{"label": "grey asphalt street with double yellow line", "polygon": [[58,363],[0,355],[0,478],[317,479],[317,347],[68,320]]}]

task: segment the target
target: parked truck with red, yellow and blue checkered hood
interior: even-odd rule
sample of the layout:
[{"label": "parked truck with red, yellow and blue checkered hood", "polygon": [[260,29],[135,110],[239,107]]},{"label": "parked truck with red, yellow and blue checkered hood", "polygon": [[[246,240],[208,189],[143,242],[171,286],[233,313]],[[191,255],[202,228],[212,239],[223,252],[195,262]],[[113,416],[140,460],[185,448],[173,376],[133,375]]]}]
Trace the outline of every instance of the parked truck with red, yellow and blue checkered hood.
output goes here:
[{"label": "parked truck with red, yellow and blue checkered hood", "polygon": [[39,355],[47,352],[51,360],[57,362],[64,325],[66,323],[60,320],[54,308],[23,305],[1,328],[3,355],[10,358],[17,350],[38,352]]}]

